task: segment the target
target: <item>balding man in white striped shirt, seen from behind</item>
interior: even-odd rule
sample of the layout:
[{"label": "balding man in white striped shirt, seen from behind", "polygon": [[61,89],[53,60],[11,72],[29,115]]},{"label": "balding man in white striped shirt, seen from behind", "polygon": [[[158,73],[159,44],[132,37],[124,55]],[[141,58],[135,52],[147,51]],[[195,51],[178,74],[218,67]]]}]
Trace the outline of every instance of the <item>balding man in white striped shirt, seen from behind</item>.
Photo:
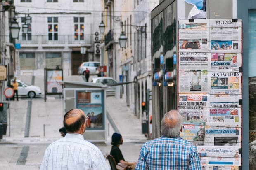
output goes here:
[{"label": "balding man in white striped shirt, seen from behind", "polygon": [[87,119],[81,109],[66,112],[68,133],[47,147],[40,170],[109,170],[100,149],[83,138]]}]

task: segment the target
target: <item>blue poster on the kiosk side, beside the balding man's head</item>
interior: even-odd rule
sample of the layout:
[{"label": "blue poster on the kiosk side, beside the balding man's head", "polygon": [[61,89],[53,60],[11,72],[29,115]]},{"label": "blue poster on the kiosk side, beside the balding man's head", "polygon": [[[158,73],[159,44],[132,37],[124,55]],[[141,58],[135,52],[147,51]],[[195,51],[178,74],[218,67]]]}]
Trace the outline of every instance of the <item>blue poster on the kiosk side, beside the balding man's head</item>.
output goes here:
[{"label": "blue poster on the kiosk side, beside the balding man's head", "polygon": [[104,129],[104,108],[102,91],[76,91],[76,108],[83,110],[89,117],[88,130]]}]

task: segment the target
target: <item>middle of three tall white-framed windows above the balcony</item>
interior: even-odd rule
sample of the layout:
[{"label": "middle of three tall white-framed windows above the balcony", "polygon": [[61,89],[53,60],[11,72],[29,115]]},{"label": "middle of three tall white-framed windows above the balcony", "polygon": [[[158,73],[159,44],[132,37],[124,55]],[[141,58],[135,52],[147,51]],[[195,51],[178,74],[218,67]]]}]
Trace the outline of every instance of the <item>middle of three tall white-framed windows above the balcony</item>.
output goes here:
[{"label": "middle of three tall white-framed windows above the balcony", "polygon": [[48,17],[48,40],[58,40],[58,17]]}]

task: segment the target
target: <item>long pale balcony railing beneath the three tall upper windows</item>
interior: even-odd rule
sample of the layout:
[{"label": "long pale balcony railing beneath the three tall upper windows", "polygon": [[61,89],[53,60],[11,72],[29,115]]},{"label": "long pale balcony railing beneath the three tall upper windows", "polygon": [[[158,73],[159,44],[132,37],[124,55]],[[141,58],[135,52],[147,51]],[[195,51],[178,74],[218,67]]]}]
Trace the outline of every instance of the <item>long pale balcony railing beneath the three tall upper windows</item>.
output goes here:
[{"label": "long pale balcony railing beneath the three tall upper windows", "polygon": [[49,37],[48,35],[32,35],[30,37],[19,36],[19,39],[16,40],[16,43],[21,45],[85,45],[92,44],[91,35],[85,35],[84,40],[75,40],[74,35],[58,35],[57,37]]}]

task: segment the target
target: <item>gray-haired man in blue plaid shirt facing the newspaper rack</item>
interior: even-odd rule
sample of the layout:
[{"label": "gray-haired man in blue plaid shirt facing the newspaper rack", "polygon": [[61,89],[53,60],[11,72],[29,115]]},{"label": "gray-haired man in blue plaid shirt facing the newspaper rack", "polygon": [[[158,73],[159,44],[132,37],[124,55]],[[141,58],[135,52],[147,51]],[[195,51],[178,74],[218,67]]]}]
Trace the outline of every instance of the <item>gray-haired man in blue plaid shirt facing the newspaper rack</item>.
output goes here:
[{"label": "gray-haired man in blue plaid shirt facing the newspaper rack", "polygon": [[177,110],[161,121],[162,136],[146,142],[135,170],[201,170],[197,147],[180,138],[182,117]]}]

